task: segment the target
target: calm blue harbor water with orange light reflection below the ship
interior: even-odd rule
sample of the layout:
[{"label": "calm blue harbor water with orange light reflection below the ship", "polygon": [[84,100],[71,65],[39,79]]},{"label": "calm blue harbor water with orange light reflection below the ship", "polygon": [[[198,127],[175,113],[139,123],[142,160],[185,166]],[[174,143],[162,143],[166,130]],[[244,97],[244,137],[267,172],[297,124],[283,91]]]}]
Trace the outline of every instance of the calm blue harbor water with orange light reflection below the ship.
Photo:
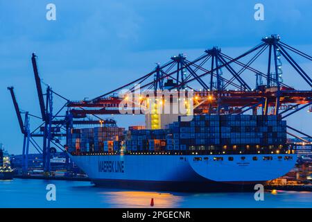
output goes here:
[{"label": "calm blue harbor water with orange light reflection below the ship", "polygon": [[[55,185],[56,200],[46,200],[46,186]],[[312,207],[312,192],[175,193],[95,187],[91,182],[62,180],[0,180],[0,207]]]}]

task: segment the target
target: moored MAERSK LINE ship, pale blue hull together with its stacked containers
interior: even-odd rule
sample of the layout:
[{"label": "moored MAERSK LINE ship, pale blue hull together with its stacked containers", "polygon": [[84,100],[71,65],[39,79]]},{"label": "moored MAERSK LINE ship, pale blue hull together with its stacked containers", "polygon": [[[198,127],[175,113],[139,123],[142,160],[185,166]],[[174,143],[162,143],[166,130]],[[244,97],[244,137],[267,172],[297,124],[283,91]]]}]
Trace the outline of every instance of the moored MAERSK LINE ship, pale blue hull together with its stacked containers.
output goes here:
[{"label": "moored MAERSK LINE ship, pale blue hull together with its stacked containers", "polygon": [[297,160],[278,115],[202,114],[163,129],[72,129],[67,151],[95,185],[167,191],[250,190],[284,176]]}]

